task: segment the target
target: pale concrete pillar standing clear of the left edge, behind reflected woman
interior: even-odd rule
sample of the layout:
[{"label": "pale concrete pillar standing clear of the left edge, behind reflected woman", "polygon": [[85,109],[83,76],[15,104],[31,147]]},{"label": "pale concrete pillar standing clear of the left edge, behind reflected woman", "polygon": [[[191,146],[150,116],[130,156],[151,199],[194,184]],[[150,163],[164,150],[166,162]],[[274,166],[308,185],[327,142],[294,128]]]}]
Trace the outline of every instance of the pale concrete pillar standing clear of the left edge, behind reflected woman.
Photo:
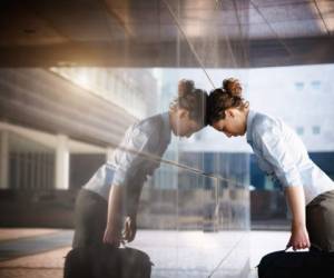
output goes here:
[{"label": "pale concrete pillar standing clear of the left edge, behind reflected woman", "polygon": [[56,189],[69,189],[69,148],[68,138],[65,135],[57,136],[56,149]]}]

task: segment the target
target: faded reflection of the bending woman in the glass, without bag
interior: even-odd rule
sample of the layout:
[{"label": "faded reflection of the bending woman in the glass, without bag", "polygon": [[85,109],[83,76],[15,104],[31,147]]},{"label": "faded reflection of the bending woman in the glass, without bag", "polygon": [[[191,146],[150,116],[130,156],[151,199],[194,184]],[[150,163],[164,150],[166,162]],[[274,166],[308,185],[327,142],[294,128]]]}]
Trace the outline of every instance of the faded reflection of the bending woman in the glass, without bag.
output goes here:
[{"label": "faded reflection of the bending woman in the glass, without bag", "polygon": [[[178,97],[168,112],[156,115],[130,126],[112,158],[102,165],[80,190],[76,202],[73,247],[95,242],[119,246],[121,219],[125,240],[136,235],[136,216],[141,188],[170,141],[171,132],[189,137],[202,129],[207,93],[195,89],[190,80],[178,83]],[[131,150],[131,151],[126,151]],[[143,156],[145,153],[146,156]]]}]

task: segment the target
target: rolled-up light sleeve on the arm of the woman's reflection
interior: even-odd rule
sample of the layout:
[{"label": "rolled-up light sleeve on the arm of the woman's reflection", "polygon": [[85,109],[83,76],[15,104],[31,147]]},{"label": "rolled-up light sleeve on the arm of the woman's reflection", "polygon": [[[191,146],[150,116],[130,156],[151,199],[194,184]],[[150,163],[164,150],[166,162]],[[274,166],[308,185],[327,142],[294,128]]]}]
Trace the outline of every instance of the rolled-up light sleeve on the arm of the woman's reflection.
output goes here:
[{"label": "rolled-up light sleeve on the arm of the woman's reflection", "polygon": [[114,185],[126,186],[129,178],[138,171],[138,167],[145,163],[145,152],[148,149],[149,135],[138,128],[126,133],[124,142],[117,150],[117,167],[114,177]]}]

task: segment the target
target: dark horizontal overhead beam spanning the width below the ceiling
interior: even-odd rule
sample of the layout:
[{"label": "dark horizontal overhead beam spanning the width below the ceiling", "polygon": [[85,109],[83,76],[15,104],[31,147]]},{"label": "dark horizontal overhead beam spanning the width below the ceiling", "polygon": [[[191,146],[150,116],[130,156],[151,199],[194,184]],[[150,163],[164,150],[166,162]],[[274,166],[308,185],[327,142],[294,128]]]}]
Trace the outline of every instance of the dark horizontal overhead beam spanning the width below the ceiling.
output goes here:
[{"label": "dark horizontal overhead beam spanning the width below the ceiling", "polygon": [[[226,50],[226,41],[218,41],[217,51],[210,53],[209,43],[193,41],[206,68],[254,68],[334,62],[334,38],[286,39],[289,52],[275,40],[244,41],[248,50],[245,61],[235,64]],[[246,42],[246,43],[245,43]],[[238,57],[239,41],[230,42]],[[177,48],[180,54],[177,54]],[[38,47],[0,47],[0,67],[199,67],[185,41],[136,43],[129,42],[69,42]]]}]

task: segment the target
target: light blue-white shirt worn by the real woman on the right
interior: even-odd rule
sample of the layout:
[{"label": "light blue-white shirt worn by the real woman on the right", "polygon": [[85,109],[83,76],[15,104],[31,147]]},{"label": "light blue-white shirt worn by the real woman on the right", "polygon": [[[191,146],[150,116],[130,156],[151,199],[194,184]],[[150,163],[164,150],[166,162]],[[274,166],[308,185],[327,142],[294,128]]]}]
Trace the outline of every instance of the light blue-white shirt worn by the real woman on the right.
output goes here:
[{"label": "light blue-white shirt worn by the real woman on the right", "polygon": [[259,168],[275,176],[283,187],[304,187],[306,205],[334,190],[333,180],[310,159],[303,141],[279,119],[249,110],[247,142]]}]

